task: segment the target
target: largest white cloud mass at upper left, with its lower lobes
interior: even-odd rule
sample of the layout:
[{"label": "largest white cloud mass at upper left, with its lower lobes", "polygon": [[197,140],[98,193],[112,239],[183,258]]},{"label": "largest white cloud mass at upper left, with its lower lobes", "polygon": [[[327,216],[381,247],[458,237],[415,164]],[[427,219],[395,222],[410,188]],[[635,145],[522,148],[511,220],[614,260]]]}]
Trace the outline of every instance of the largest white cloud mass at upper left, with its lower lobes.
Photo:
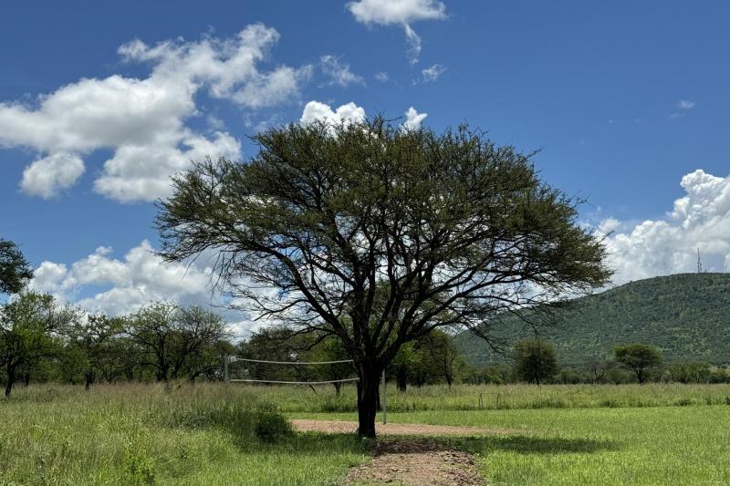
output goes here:
[{"label": "largest white cloud mass at upper left, with its lower lobes", "polygon": [[260,67],[278,39],[275,29],[255,24],[233,38],[155,46],[133,40],[119,48],[120,57],[150,65],[147,78],[84,78],[39,96],[32,106],[0,103],[0,147],[41,154],[21,182],[29,194],[56,195],[78,180],[85,155],[110,149],[95,191],[121,202],[164,197],[170,176],[188,168],[190,160],[240,157],[240,143],[230,134],[186,126],[199,114],[195,99],[201,92],[243,109],[297,97],[312,67]]}]

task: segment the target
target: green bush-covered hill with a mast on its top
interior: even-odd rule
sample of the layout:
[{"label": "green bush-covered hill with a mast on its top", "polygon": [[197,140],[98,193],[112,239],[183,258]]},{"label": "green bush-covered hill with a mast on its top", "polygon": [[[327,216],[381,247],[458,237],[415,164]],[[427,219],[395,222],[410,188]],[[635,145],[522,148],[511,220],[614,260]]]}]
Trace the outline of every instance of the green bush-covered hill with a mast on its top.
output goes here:
[{"label": "green bush-covered hill with a mast on its top", "polygon": [[[514,316],[495,323],[495,335],[512,342],[534,336]],[[730,274],[675,274],[623,284],[572,301],[540,326],[564,364],[611,357],[613,346],[641,342],[658,346],[667,361],[730,363]],[[474,366],[503,361],[469,332],[457,346]]]}]

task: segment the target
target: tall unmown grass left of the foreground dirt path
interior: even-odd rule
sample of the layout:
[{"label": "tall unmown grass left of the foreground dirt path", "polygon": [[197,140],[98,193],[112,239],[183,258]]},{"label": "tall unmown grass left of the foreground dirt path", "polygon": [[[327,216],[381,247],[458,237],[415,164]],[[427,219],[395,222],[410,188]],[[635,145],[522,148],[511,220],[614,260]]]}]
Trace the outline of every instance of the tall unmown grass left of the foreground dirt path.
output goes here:
[{"label": "tall unmown grass left of the foreground dirt path", "polygon": [[364,459],[351,437],[294,436],[247,390],[17,391],[0,402],[0,484],[328,484]]}]

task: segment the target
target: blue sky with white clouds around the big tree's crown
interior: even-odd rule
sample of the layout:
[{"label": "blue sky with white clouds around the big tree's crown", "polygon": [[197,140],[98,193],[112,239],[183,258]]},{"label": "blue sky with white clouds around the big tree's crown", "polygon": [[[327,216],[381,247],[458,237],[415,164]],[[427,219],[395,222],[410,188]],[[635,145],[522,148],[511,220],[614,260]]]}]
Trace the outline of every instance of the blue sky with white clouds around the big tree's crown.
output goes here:
[{"label": "blue sky with white clouds around the big tree's crown", "polygon": [[381,114],[538,150],[613,284],[696,271],[697,249],[725,272],[728,25],[720,1],[9,3],[0,237],[91,311],[209,302],[204,264],[153,253],[170,176],[247,160],[260,129]]}]

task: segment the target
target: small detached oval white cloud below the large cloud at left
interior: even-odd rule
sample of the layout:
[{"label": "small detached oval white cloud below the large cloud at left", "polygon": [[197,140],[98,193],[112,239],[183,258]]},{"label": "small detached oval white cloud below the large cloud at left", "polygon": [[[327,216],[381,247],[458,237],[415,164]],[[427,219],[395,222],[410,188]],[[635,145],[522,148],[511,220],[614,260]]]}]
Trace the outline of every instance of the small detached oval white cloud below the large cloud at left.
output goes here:
[{"label": "small detached oval white cloud below the large cloud at left", "polygon": [[77,155],[56,152],[27,166],[20,187],[27,194],[48,199],[74,185],[83,173],[84,161]]}]

